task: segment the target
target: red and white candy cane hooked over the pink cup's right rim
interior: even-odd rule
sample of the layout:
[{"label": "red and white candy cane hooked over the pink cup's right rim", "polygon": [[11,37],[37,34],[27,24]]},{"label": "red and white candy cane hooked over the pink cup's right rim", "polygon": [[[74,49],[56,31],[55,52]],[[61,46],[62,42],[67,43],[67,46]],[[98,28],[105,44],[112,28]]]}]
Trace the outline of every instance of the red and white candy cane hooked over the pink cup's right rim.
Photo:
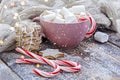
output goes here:
[{"label": "red and white candy cane hooked over the pink cup's right rim", "polygon": [[89,14],[88,18],[79,18],[78,22],[80,21],[84,21],[84,20],[87,20],[89,19],[90,21],[90,25],[91,25],[91,28],[89,29],[89,31],[86,33],[86,38],[90,37],[91,35],[93,35],[93,33],[95,32],[96,30],[96,22],[94,20],[94,18]]}]

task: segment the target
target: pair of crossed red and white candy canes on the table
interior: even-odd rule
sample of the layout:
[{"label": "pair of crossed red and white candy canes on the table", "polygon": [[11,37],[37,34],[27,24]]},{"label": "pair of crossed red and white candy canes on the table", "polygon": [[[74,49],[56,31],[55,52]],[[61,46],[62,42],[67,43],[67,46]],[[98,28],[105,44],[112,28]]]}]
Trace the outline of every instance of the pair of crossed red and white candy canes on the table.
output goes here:
[{"label": "pair of crossed red and white candy canes on the table", "polygon": [[77,72],[81,68],[81,65],[76,62],[67,61],[67,60],[49,60],[21,48],[16,48],[16,51],[24,55],[27,55],[31,58],[34,58],[34,59],[16,59],[16,63],[27,63],[27,64],[40,63],[40,64],[47,64],[55,68],[53,72],[44,72],[38,69],[33,69],[33,73],[39,76],[53,77],[55,75],[58,75],[61,70],[65,72]]}]

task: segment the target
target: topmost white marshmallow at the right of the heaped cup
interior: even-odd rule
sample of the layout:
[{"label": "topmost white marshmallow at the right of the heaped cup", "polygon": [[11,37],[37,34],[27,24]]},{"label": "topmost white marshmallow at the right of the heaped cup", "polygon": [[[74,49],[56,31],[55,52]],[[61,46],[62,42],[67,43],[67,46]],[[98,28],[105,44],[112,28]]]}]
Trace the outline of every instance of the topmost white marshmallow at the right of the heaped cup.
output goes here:
[{"label": "topmost white marshmallow at the right of the heaped cup", "polygon": [[80,5],[80,6],[73,6],[72,8],[69,9],[70,12],[72,12],[73,14],[80,14],[80,12],[85,12],[85,6],[84,5]]}]

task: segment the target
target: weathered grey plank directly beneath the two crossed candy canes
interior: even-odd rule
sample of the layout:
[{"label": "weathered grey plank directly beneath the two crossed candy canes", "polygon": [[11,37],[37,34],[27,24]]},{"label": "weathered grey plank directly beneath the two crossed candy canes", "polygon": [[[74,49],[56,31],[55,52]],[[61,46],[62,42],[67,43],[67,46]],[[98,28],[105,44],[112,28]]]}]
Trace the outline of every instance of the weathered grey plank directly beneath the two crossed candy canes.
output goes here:
[{"label": "weathered grey plank directly beneath the two crossed candy canes", "polygon": [[[9,57],[7,55],[8,53],[4,54],[4,60],[8,63],[11,68],[19,74],[19,76],[22,77],[23,80],[47,80],[44,77],[39,77],[34,75],[31,70],[35,66],[33,65],[27,65],[27,64],[16,64],[15,56],[18,57],[18,54],[16,53],[10,53]],[[10,56],[11,55],[11,56]],[[14,58],[12,58],[14,55]],[[90,58],[90,57],[88,57]],[[95,61],[93,58],[90,58],[89,60],[82,59],[80,56],[74,56],[74,55],[68,55],[65,53],[65,57],[63,59],[71,60],[75,62],[80,62],[82,65],[81,71],[77,73],[66,73],[61,72],[59,75],[55,76],[52,79],[48,80],[111,80],[113,77],[116,77],[116,74],[106,67],[99,64],[97,61]],[[49,66],[43,66],[41,64],[41,67],[39,68],[41,70],[47,70],[51,71],[52,69]]]}]

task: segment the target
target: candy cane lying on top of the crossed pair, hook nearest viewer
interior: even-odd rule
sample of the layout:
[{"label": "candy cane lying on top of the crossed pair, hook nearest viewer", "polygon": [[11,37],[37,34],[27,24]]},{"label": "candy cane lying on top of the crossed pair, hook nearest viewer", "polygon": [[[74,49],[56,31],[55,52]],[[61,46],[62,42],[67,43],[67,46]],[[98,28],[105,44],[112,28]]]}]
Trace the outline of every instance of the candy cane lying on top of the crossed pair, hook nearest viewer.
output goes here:
[{"label": "candy cane lying on top of the crossed pair, hook nearest viewer", "polygon": [[18,52],[20,52],[20,53],[28,55],[28,56],[30,56],[32,58],[37,59],[37,60],[40,60],[41,63],[48,64],[48,65],[52,66],[53,68],[55,68],[55,70],[53,72],[44,72],[44,71],[41,71],[41,70],[38,70],[38,69],[33,69],[33,73],[35,73],[37,75],[40,75],[40,76],[44,76],[44,77],[53,77],[53,76],[60,73],[60,67],[57,64],[55,64],[53,61],[50,61],[50,60],[48,60],[46,58],[37,56],[36,54],[34,54],[32,52],[29,52],[27,50],[21,49],[21,48],[16,48],[16,50]]}]

